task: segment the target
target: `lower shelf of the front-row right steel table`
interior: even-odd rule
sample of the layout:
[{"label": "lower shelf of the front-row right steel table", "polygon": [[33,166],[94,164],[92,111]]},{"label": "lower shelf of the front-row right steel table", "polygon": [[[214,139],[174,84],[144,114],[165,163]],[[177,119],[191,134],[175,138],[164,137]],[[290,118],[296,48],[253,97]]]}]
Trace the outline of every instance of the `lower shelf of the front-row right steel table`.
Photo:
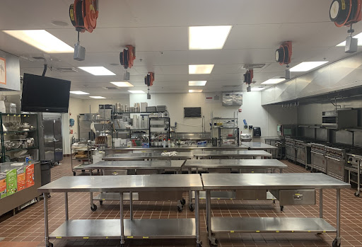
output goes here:
[{"label": "lower shelf of the front-row right steel table", "polygon": [[246,217],[246,218],[211,218],[212,233],[237,233],[237,232],[313,232],[334,233],[329,223],[321,218],[296,218],[296,217]]}]

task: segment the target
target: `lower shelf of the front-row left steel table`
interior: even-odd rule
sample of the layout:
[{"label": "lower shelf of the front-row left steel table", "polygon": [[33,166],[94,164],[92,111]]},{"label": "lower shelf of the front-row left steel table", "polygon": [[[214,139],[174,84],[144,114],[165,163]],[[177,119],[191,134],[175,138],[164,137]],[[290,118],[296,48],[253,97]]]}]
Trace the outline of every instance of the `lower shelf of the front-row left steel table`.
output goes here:
[{"label": "lower shelf of the front-row left steel table", "polygon": [[[120,239],[119,219],[72,219],[49,239]],[[195,219],[124,219],[125,239],[195,239]]]}]

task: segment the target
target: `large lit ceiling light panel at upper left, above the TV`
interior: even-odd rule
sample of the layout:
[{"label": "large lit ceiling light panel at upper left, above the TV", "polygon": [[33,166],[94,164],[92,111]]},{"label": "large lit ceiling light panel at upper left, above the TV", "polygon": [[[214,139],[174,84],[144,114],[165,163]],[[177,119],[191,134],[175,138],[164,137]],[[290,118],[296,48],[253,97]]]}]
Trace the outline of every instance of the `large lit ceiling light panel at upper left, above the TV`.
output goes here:
[{"label": "large lit ceiling light panel at upper left, above the TV", "polygon": [[48,53],[70,53],[74,48],[46,30],[4,30],[4,33]]}]

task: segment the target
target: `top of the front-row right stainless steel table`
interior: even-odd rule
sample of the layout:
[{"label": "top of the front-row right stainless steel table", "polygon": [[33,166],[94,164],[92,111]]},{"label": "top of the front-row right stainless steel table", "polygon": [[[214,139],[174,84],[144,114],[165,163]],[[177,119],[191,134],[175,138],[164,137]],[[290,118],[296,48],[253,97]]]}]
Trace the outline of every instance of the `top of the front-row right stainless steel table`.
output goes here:
[{"label": "top of the front-row right stainless steel table", "polygon": [[349,183],[323,173],[202,174],[205,190],[350,188]]}]

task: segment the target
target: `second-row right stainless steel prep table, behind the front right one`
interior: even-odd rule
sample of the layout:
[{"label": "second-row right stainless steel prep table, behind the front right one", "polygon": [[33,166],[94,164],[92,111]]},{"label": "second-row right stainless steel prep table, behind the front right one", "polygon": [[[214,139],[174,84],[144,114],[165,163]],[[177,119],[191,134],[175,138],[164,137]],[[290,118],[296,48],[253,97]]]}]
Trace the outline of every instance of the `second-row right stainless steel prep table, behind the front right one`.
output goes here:
[{"label": "second-row right stainless steel prep table, behind the front right one", "polygon": [[[204,171],[209,171],[210,169],[217,169],[218,172],[221,170],[228,169],[227,173],[230,173],[231,169],[238,169],[239,173],[268,173],[270,170],[271,173],[274,173],[275,169],[279,169],[279,172],[282,173],[284,168],[288,168],[286,164],[278,161],[276,159],[190,159],[185,163],[185,168],[189,171],[189,174],[192,173],[192,168],[196,168],[196,171],[203,169]],[[266,193],[266,195],[265,195]],[[258,195],[259,193],[254,193],[253,195]],[[193,210],[192,198],[193,193],[189,191],[189,209]],[[251,198],[241,198],[241,195],[236,196],[235,191],[212,191],[211,200],[252,200]],[[245,193],[243,194],[245,195]],[[249,195],[250,196],[250,193]],[[206,192],[200,192],[200,199],[206,198]],[[264,191],[264,195],[260,198],[253,198],[253,200],[275,200],[276,197],[271,195],[271,193]]]}]

